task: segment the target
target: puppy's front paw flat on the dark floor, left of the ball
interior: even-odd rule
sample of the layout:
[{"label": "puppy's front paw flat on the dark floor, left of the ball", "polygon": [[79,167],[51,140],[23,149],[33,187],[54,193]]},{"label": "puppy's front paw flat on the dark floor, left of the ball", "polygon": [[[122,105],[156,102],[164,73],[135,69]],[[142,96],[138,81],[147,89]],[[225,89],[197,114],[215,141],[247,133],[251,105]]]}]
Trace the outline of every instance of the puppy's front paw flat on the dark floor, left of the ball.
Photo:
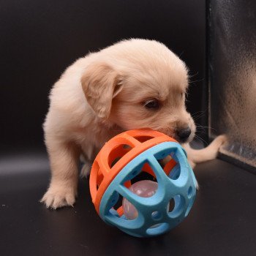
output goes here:
[{"label": "puppy's front paw flat on the dark floor, left of the ball", "polygon": [[76,195],[76,189],[72,187],[51,185],[40,202],[45,203],[47,208],[53,209],[63,206],[73,206]]}]

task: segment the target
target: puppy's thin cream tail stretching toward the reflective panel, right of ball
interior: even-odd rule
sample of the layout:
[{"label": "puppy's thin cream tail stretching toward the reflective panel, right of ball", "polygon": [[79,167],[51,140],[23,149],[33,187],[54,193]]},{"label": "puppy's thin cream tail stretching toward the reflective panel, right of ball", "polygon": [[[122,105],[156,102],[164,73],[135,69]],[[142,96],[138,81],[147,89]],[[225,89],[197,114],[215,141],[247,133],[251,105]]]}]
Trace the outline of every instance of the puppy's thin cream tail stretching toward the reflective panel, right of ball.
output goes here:
[{"label": "puppy's thin cream tail stretching toward the reflective panel, right of ball", "polygon": [[206,162],[208,160],[215,159],[217,157],[220,146],[222,146],[226,140],[227,138],[225,135],[219,135],[211,142],[210,145],[199,150],[191,148],[189,144],[185,144],[184,148],[187,151],[187,159],[189,160],[189,164],[193,168],[200,162]]}]

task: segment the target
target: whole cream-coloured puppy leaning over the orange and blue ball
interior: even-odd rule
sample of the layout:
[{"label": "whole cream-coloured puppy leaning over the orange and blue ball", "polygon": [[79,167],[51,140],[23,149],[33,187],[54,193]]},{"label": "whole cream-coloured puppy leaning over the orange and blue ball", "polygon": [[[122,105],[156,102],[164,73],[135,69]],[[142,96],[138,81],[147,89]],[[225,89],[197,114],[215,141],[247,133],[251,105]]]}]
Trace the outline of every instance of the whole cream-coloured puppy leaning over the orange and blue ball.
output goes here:
[{"label": "whole cream-coloured puppy leaning over the orange and blue ball", "polygon": [[[104,143],[127,129],[151,128],[187,143],[195,124],[185,108],[187,68],[165,45],[131,39],[91,53],[72,64],[50,93],[45,143],[50,157],[50,187],[42,197],[47,207],[72,206],[78,184],[78,159],[83,173]],[[222,137],[188,158],[213,159]]]}]

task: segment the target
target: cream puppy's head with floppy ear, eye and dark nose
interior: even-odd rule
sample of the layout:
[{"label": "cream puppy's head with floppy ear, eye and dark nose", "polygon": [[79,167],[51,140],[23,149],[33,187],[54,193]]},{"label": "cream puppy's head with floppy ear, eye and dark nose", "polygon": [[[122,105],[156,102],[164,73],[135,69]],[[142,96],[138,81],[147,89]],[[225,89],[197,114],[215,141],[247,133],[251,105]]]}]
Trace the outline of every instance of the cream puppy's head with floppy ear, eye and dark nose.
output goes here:
[{"label": "cream puppy's head with floppy ear, eye and dark nose", "polygon": [[132,39],[97,53],[81,80],[91,108],[121,129],[151,128],[181,143],[195,135],[187,68],[165,45]]}]

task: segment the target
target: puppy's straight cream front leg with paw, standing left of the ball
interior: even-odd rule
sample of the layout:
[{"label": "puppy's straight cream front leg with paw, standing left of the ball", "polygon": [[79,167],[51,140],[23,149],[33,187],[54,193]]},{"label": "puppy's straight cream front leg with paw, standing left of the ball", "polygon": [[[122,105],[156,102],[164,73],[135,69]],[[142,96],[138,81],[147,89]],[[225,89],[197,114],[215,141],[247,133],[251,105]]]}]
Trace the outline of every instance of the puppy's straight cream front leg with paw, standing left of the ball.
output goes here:
[{"label": "puppy's straight cream front leg with paw, standing left of the ball", "polygon": [[[54,142],[53,142],[54,141]],[[75,143],[56,143],[47,140],[50,157],[51,180],[48,191],[41,202],[49,208],[72,206],[75,203],[78,187],[79,149]]]}]

